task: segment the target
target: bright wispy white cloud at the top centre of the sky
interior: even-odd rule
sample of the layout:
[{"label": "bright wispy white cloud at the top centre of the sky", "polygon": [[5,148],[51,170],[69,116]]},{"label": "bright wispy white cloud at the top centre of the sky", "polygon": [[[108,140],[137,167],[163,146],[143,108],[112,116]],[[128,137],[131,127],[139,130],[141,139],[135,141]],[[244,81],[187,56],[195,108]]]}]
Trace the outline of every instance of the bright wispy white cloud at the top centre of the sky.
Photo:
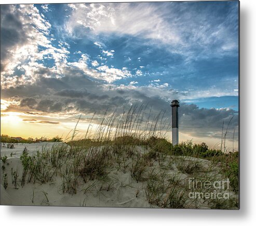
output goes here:
[{"label": "bright wispy white cloud at the top centre of the sky", "polygon": [[[72,4],[74,5],[74,4]],[[118,33],[167,42],[177,42],[179,37],[173,26],[165,22],[163,4],[87,4],[87,8],[75,4],[68,29],[82,25],[95,33]],[[86,17],[85,17],[86,15]],[[174,24],[174,23],[173,23]]]}]

